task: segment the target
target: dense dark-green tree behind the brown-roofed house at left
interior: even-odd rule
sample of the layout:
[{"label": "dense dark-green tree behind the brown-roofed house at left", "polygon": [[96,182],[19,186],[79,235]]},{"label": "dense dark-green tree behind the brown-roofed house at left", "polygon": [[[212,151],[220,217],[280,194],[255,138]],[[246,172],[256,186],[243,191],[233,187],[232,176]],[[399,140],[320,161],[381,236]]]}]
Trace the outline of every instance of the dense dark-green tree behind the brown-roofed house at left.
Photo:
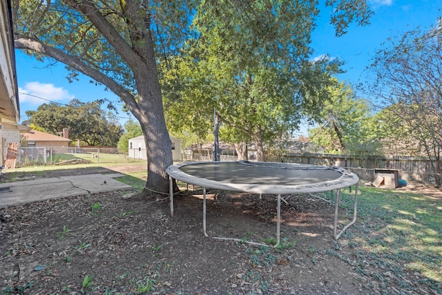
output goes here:
[{"label": "dense dark-green tree behind the brown-roofed house at left", "polygon": [[37,111],[26,111],[26,115],[30,117],[30,124],[47,133],[59,135],[67,128],[71,140],[80,140],[89,146],[115,146],[123,132],[115,117],[106,118],[99,102],[73,99],[66,106],[42,104]]}]

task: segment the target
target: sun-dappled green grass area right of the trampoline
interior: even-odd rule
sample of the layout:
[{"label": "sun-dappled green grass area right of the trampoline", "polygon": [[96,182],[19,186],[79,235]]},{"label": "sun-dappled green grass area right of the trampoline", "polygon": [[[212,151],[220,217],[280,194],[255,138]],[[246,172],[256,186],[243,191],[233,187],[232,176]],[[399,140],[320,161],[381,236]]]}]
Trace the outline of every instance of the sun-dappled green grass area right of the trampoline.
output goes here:
[{"label": "sun-dappled green grass area right of the trampoline", "polygon": [[[343,193],[342,207],[348,211],[353,196]],[[411,274],[419,283],[442,292],[441,204],[442,198],[361,188],[358,220],[343,235],[356,250],[356,259],[343,258],[361,274],[376,278],[381,290],[393,280],[405,290],[419,292],[403,279],[404,274]]]}]

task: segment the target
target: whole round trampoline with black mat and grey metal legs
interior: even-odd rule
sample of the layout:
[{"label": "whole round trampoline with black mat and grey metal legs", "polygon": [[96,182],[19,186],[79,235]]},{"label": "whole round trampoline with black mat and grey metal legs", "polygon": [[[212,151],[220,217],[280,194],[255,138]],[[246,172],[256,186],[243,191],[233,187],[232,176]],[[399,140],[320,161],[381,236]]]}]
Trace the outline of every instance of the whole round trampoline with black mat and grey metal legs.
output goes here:
[{"label": "whole round trampoline with black mat and grey metal legs", "polygon": [[[286,202],[291,194],[321,193],[336,190],[333,234],[337,240],[343,232],[356,222],[358,176],[336,166],[316,166],[309,164],[291,164],[279,162],[184,162],[167,168],[169,174],[169,194],[171,216],[173,216],[173,179],[195,184],[203,190],[203,231],[206,233],[206,189],[224,191],[241,191],[244,193],[272,194],[277,196],[276,245],[280,243],[280,210],[281,200]],[[354,193],[353,219],[338,232],[338,208],[340,190],[356,185]],[[283,198],[283,195],[289,195]],[[221,240],[238,238],[212,237]],[[258,242],[246,241],[255,245]]]}]

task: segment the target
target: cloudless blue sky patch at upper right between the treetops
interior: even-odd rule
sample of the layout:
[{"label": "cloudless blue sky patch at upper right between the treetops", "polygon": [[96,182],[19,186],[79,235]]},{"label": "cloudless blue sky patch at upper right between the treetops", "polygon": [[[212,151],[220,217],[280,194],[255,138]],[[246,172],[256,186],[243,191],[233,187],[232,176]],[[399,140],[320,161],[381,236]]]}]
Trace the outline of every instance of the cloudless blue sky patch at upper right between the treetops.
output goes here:
[{"label": "cloudless blue sky patch at upper right between the treetops", "polygon": [[318,27],[312,37],[315,55],[329,54],[347,62],[345,74],[338,78],[356,84],[369,59],[388,37],[401,37],[403,33],[420,26],[435,26],[442,16],[441,0],[369,0],[374,15],[367,26],[352,24],[347,34],[334,36],[329,23],[329,10],[322,10]]}]

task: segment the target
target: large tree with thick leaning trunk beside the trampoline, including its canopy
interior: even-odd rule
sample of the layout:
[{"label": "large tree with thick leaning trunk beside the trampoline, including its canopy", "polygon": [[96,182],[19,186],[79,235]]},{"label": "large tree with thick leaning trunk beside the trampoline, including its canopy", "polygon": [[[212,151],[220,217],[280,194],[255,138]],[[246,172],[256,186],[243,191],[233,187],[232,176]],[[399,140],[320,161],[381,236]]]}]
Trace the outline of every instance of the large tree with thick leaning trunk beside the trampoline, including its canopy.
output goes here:
[{"label": "large tree with thick leaning trunk beside the trampoline, including its canopy", "polygon": [[[247,23],[256,5],[273,6],[275,3],[276,8],[289,2],[233,0],[229,3],[236,6],[237,15]],[[309,7],[296,13],[304,16],[299,21],[314,26],[318,3],[308,2],[311,3]],[[369,16],[365,0],[350,1],[352,5],[348,2],[327,1],[327,6],[333,10],[332,23],[338,34],[344,32],[349,22],[365,23]],[[172,164],[172,152],[164,120],[157,59],[164,61],[171,50],[180,48],[183,41],[191,37],[187,23],[197,9],[202,14],[207,11],[206,19],[215,17],[230,23],[231,19],[216,15],[218,11],[214,8],[219,4],[215,0],[13,0],[15,45],[37,58],[51,57],[66,64],[71,71],[70,79],[83,73],[121,97],[140,122],[146,138],[146,189],[166,192],[166,167]],[[287,12],[280,11],[282,15]],[[259,21],[253,19],[249,24],[259,25]],[[247,43],[256,41],[262,40]],[[296,42],[308,43],[309,39]]]}]

